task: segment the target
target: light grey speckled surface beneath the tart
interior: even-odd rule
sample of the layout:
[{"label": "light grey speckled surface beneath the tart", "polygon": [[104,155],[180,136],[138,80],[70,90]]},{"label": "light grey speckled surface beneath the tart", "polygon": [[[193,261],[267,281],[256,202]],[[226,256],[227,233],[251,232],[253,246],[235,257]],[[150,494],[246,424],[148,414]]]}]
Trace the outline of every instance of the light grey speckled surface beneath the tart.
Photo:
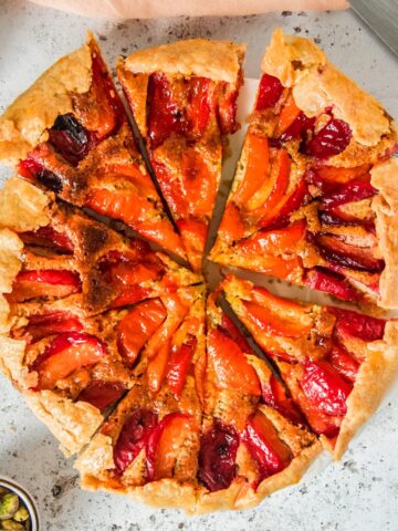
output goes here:
[{"label": "light grey speckled surface beneath the tart", "polygon": [[[116,23],[43,10],[19,0],[0,0],[0,111],[52,61],[78,46],[87,28],[101,35],[111,61],[119,52],[176,38],[245,41],[247,74],[255,77],[275,24],[318,39],[337,65],[398,116],[396,60],[350,12]],[[178,511],[155,511],[119,497],[81,491],[72,460],[62,457],[55,440],[4,378],[0,378],[0,473],[33,492],[45,531],[398,530],[396,403],[368,423],[341,462],[315,479],[277,492],[250,511],[187,519]]]}]

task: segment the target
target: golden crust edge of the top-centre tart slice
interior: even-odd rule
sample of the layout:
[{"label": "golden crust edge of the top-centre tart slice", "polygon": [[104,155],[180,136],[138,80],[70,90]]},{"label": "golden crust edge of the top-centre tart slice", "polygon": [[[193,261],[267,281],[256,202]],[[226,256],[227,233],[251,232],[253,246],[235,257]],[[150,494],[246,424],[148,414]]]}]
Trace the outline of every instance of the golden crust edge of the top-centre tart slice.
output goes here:
[{"label": "golden crust edge of the top-centre tart slice", "polygon": [[244,44],[188,39],[134,52],[122,60],[118,67],[122,69],[124,64],[124,69],[133,73],[159,71],[170,75],[197,75],[234,83],[244,51]]}]

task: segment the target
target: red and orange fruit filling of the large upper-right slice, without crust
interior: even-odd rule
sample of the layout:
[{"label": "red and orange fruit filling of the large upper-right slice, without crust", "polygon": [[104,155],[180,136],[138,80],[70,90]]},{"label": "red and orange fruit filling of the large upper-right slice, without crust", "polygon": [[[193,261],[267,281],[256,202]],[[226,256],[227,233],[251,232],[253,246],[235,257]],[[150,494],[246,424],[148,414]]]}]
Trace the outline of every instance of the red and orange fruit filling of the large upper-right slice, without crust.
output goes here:
[{"label": "red and orange fruit filling of the large upper-right slice, without crust", "polygon": [[375,238],[375,157],[365,154],[353,166],[357,140],[348,123],[333,105],[306,116],[295,96],[294,83],[262,75],[210,258],[375,302],[386,267]]}]

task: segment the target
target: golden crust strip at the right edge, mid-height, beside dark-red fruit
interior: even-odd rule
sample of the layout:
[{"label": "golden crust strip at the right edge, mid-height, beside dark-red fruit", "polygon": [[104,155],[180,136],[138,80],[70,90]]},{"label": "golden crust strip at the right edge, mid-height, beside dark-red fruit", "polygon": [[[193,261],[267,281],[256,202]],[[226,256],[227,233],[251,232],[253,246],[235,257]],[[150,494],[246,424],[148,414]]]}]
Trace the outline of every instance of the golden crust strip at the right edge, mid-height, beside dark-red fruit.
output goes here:
[{"label": "golden crust strip at the right edge, mid-height, beside dark-red fruit", "polygon": [[398,160],[391,158],[373,167],[371,185],[379,195],[371,201],[376,215],[376,233],[386,267],[380,275],[378,304],[398,306]]}]

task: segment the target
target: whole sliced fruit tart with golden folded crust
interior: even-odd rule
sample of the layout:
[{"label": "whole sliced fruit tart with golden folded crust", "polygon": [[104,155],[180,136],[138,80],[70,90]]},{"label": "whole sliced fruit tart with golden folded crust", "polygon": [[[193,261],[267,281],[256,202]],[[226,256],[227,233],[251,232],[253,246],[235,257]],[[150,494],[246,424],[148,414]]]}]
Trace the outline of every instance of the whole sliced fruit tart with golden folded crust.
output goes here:
[{"label": "whole sliced fruit tart with golden folded crust", "polygon": [[0,117],[0,368],[84,488],[189,513],[339,458],[398,372],[396,127],[312,41],[274,32],[210,258],[344,308],[201,274],[243,54],[119,59],[130,126],[90,34]]}]

